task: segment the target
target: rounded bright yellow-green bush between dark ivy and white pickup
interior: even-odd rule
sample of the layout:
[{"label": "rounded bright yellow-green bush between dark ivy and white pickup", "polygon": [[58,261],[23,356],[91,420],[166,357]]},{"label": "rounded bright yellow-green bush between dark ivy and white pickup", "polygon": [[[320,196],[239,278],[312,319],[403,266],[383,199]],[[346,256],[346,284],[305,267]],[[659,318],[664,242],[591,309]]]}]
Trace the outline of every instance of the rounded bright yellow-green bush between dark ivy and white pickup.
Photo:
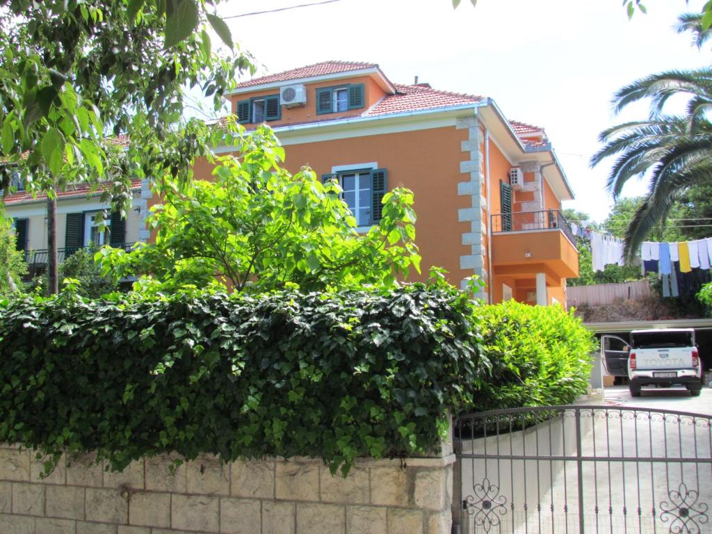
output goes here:
[{"label": "rounded bright yellow-green bush between dark ivy and white pickup", "polygon": [[573,310],[508,300],[476,308],[475,322],[490,363],[476,409],[572,404],[587,392],[596,342]]}]

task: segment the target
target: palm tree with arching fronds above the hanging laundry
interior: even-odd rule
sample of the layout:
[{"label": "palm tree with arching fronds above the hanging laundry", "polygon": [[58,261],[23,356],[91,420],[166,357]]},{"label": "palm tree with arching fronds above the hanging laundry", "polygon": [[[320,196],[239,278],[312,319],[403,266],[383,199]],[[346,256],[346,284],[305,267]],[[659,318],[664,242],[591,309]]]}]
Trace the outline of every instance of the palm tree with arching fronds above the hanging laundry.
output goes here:
[{"label": "palm tree with arching fronds above the hanging laundry", "polygon": [[[712,35],[702,29],[701,15],[679,18],[679,32],[692,31],[701,47]],[[688,98],[686,114],[666,115],[664,107],[676,95]],[[626,232],[626,255],[631,258],[649,231],[664,222],[671,205],[692,184],[712,179],[712,68],[669,70],[637,80],[615,95],[619,112],[639,100],[649,100],[648,120],[626,122],[599,135],[604,147],[591,165],[617,156],[607,179],[607,189],[618,199],[632,177],[649,173],[649,188]]]}]

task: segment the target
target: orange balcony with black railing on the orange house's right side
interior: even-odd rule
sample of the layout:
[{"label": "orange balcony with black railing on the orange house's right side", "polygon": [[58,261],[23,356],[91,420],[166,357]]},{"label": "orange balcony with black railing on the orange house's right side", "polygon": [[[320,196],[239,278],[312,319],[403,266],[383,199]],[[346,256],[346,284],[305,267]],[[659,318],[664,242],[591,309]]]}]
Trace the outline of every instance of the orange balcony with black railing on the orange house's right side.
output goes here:
[{"label": "orange balcony with black railing on the orange house's right side", "polygon": [[578,276],[576,240],[559,210],[496,214],[491,229],[496,276],[533,279],[545,273],[551,286]]}]

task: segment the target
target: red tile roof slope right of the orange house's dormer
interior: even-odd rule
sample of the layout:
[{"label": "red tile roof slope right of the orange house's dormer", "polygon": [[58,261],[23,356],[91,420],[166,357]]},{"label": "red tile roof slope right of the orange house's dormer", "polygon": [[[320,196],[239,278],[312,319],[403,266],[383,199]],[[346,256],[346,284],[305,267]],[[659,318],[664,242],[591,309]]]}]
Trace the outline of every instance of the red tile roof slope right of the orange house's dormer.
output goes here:
[{"label": "red tile roof slope right of the orange house's dormer", "polygon": [[447,108],[449,106],[476,103],[482,100],[481,96],[439,91],[420,84],[402,85],[396,83],[394,85],[397,93],[384,97],[370,110],[367,110],[363,116],[372,117],[374,115]]}]

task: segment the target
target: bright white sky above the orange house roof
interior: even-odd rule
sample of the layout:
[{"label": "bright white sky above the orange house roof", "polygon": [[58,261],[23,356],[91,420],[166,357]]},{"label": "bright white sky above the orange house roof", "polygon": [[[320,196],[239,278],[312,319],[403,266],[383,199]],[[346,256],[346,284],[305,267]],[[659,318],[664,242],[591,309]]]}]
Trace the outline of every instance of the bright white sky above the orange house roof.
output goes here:
[{"label": "bright white sky above the orange house roof", "polygon": [[[224,17],[318,0],[228,0]],[[601,221],[613,201],[609,164],[589,159],[598,133],[642,119],[645,105],[614,115],[615,91],[645,75],[696,68],[708,51],[672,30],[703,0],[647,0],[632,20],[621,0],[337,0],[278,13],[226,19],[251,52],[258,75],[319,61],[378,63],[393,82],[493,98],[511,120],[545,128],[576,199],[564,207]],[[214,41],[215,42],[215,41]],[[624,195],[645,191],[632,181]]]}]

